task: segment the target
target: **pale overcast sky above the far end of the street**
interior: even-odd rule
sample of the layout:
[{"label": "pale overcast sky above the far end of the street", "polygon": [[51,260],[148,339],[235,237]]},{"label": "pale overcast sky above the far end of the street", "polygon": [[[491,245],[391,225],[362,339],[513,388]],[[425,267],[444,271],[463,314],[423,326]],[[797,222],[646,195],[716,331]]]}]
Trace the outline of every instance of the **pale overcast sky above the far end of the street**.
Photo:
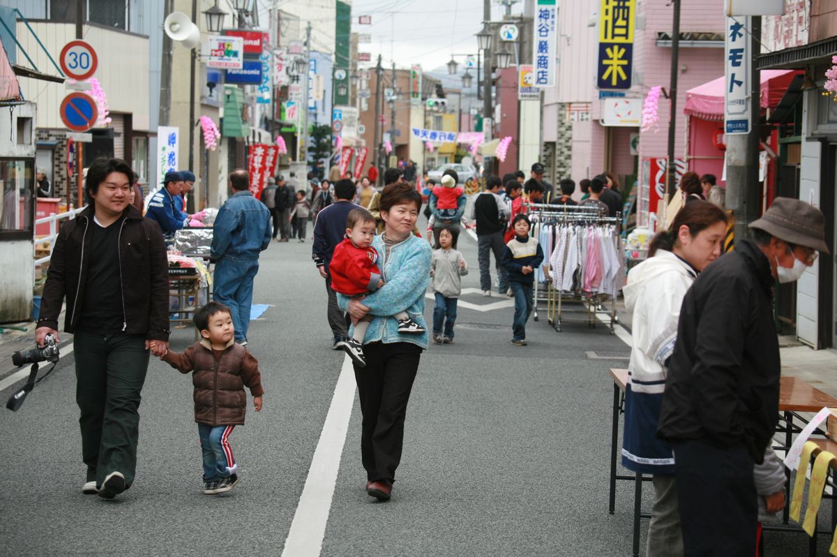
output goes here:
[{"label": "pale overcast sky above the far end of the street", "polygon": [[[483,0],[353,0],[352,31],[372,35],[371,44],[357,48],[372,54],[371,65],[382,54],[387,67],[394,61],[399,68],[421,64],[433,70],[446,64],[451,53],[476,53],[482,8]],[[492,18],[500,18],[501,9],[492,0]],[[517,3],[512,12],[521,9]],[[372,25],[357,23],[364,14],[372,16]]]}]

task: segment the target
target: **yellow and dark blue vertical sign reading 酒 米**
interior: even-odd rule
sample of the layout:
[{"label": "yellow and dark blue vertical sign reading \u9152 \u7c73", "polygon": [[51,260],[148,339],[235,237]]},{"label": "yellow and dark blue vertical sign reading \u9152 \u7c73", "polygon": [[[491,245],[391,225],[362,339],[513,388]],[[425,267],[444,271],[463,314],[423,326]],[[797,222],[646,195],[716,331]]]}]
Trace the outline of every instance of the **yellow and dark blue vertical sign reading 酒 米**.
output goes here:
[{"label": "yellow and dark blue vertical sign reading \u9152 \u7c73", "polygon": [[601,0],[598,13],[598,88],[630,89],[636,0]]}]

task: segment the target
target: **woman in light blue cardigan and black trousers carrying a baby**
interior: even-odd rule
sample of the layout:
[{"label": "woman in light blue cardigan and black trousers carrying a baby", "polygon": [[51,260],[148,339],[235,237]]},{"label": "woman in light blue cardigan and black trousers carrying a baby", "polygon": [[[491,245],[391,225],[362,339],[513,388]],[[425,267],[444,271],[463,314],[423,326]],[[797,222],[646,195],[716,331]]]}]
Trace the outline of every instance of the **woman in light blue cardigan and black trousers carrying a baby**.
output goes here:
[{"label": "woman in light blue cardigan and black trousers carrying a baby", "polygon": [[395,470],[401,461],[404,420],[413,380],[419,369],[428,334],[398,333],[392,316],[408,312],[423,328],[424,293],[430,277],[430,246],[411,233],[421,209],[421,195],[408,183],[384,188],[381,216],[383,235],[372,240],[382,254],[380,269],[385,284],[363,300],[340,296],[340,306],[354,321],[367,314],[372,322],[363,340],[366,368],[355,364],[355,380],[361,402],[361,455],[367,471],[367,494],[387,501],[393,490]]}]

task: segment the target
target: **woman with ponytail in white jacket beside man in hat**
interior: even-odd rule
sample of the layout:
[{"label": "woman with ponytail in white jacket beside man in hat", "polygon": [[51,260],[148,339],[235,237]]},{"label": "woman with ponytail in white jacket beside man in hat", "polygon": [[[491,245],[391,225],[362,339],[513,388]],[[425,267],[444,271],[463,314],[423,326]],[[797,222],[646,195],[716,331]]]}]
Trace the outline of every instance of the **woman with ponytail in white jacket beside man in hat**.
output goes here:
[{"label": "woman with ponytail in white jacket beside man in hat", "polygon": [[648,555],[682,555],[674,455],[657,439],[665,374],[677,341],[680,305],[686,291],[721,255],[727,214],[706,201],[687,204],[670,229],[651,241],[649,259],[628,273],[625,308],[632,312],[632,338],[622,464],[652,474],[655,502],[648,531]]}]

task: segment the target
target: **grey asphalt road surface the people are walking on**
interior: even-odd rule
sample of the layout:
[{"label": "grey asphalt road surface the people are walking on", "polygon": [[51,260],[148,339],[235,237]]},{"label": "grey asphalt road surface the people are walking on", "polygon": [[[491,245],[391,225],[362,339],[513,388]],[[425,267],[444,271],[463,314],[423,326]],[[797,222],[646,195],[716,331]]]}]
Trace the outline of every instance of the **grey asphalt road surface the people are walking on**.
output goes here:
[{"label": "grey asphalt road surface the people are walking on", "polygon": [[[607,512],[608,368],[627,365],[629,348],[601,324],[567,323],[556,333],[545,312],[527,327],[530,345],[512,346],[511,301],[480,311],[507,298],[476,291],[475,242],[464,235],[460,250],[471,266],[464,286],[473,289],[461,301],[473,307],[460,304],[454,344],[422,356],[393,499],[377,503],[362,489],[355,395],[321,554],[629,555],[631,482],[619,482],[616,513]],[[21,410],[0,410],[3,554],[282,553],[344,358],[329,349],[310,239],[270,245],[254,302],[270,304],[248,335],[266,394],[264,410],[249,411],[230,437],[239,485],[226,495],[201,493],[191,381],[152,358],[136,482],[110,502],[82,495],[70,355]],[[192,342],[190,328],[172,335],[173,349]],[[589,358],[590,351],[624,359]],[[646,511],[649,491],[646,484]],[[807,554],[807,537],[773,534],[767,549]]]}]

